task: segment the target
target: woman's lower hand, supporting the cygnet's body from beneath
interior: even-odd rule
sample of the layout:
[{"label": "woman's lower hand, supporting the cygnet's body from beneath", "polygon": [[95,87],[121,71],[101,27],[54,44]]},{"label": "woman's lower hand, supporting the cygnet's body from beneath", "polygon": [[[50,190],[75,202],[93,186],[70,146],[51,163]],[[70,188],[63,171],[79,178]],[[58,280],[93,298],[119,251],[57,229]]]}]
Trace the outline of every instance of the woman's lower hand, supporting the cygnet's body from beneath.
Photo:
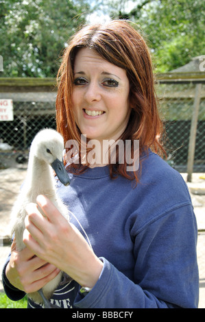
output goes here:
[{"label": "woman's lower hand, supporting the cygnet's body from beneath", "polygon": [[5,275],[14,287],[25,293],[36,292],[53,280],[59,272],[59,269],[36,257],[27,247],[17,251],[14,238],[10,262],[5,269]]}]

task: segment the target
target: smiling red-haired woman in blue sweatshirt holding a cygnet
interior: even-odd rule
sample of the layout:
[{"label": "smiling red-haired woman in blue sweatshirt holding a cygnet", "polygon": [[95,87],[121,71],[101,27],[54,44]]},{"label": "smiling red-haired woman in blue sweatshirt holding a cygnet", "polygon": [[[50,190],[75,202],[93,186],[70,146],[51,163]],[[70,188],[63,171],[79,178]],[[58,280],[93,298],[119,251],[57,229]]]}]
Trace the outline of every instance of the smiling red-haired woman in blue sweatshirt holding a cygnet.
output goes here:
[{"label": "smiling red-haired woman in blue sweatshirt holding a cygnet", "polygon": [[88,26],[73,36],[56,110],[71,175],[69,187],[58,182],[58,193],[73,216],[67,223],[43,196],[37,203],[49,221],[29,205],[27,247],[12,245],[5,292],[20,299],[62,270],[72,281],[64,278],[51,302],[64,308],[197,308],[193,206],[180,174],[159,156],[152,62],[130,23]]}]

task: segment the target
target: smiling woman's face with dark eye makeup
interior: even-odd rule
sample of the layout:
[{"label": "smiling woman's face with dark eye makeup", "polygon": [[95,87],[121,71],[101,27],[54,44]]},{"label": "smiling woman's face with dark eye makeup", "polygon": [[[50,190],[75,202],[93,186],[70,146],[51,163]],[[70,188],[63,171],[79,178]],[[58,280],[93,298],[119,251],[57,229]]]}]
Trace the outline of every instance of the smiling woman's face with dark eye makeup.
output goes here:
[{"label": "smiling woman's face with dark eye makeup", "polygon": [[129,92],[124,69],[107,62],[93,49],[77,52],[72,101],[75,122],[87,138],[119,138],[130,117]]}]

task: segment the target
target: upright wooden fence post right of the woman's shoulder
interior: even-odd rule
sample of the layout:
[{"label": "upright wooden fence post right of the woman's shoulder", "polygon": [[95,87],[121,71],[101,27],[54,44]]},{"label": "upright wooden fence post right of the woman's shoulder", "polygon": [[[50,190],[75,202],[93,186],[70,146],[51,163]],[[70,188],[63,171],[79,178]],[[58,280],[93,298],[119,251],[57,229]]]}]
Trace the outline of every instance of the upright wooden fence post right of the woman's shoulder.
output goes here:
[{"label": "upright wooden fence post right of the woman's shoulder", "polygon": [[195,98],[193,103],[193,114],[191,119],[191,129],[189,136],[189,151],[188,151],[188,161],[187,161],[187,181],[191,182],[191,177],[193,173],[193,162],[195,155],[195,140],[197,135],[197,121],[200,109],[200,97],[201,97],[202,84],[196,84],[195,87]]}]

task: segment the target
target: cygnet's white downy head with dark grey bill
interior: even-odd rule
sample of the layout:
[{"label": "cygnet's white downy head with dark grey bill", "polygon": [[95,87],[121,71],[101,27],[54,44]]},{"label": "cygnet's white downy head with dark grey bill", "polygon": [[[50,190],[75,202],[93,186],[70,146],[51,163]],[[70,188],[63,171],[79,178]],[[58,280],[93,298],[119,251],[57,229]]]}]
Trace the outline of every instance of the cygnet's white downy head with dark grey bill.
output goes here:
[{"label": "cygnet's white downy head with dark grey bill", "polygon": [[43,129],[36,134],[30,153],[33,157],[50,164],[60,182],[67,186],[70,183],[70,179],[62,162],[63,149],[64,140],[60,133],[54,129]]}]

